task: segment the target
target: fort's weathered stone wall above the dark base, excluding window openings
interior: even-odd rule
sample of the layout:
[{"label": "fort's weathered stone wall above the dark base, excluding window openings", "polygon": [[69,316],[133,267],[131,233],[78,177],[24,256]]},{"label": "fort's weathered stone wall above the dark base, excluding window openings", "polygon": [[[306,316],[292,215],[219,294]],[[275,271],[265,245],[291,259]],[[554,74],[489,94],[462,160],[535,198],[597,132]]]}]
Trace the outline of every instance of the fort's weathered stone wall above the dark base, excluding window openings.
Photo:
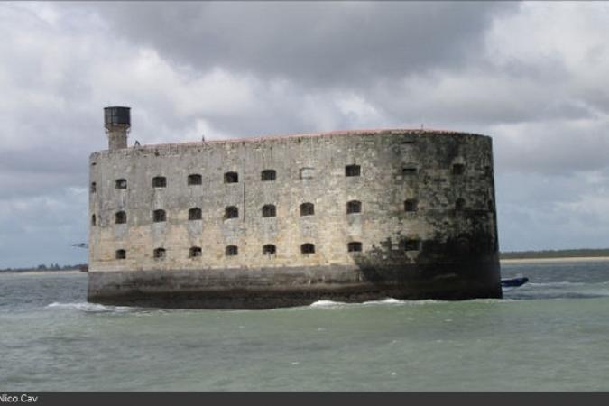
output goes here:
[{"label": "fort's weathered stone wall above the dark base, excluding window openings", "polygon": [[[422,272],[482,262],[492,264],[485,283],[501,294],[486,136],[388,130],[174,143],[95,152],[90,164],[96,184],[89,200],[89,217],[96,217],[90,272],[241,269],[245,275],[346,266],[372,281],[404,265]],[[360,165],[360,176],[346,177],[352,164]],[[263,170],[276,171],[276,179],[262,181]],[[238,173],[238,182],[225,183],[228,171]],[[202,184],[188,185],[189,174],[200,174]],[[153,188],[155,176],[165,177],[167,187]],[[115,189],[119,179],[126,189]],[[404,210],[407,199],[417,200],[416,211]],[[458,199],[463,207],[456,208]],[[361,213],[346,214],[350,200],[361,201]],[[314,216],[300,217],[305,202],[315,205]],[[262,216],[267,204],[276,217]],[[239,217],[224,218],[227,206],[238,208]],[[189,208],[201,208],[202,219],[189,220]],[[152,222],[155,209],[166,211],[165,222]],[[126,224],[115,224],[118,211],[125,211]],[[347,252],[349,242],[361,242],[363,251]],[[301,254],[305,243],[315,245],[315,254]],[[264,255],[266,244],[276,254]],[[238,254],[226,256],[226,245],[236,245]],[[201,247],[200,256],[189,257],[192,246]],[[166,250],[163,259],[153,258],[157,247]],[[116,259],[116,250],[126,258]],[[455,272],[445,273],[450,279]]]}]

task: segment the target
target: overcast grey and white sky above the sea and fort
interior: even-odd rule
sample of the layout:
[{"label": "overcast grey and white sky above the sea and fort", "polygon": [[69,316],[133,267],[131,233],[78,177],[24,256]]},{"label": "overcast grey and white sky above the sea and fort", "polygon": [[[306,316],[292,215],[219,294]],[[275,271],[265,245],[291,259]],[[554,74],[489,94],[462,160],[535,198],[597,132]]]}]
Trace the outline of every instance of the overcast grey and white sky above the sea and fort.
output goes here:
[{"label": "overcast grey and white sky above the sea and fort", "polygon": [[0,268],[83,263],[103,107],[130,143],[494,139],[503,251],[609,246],[608,3],[0,3]]}]

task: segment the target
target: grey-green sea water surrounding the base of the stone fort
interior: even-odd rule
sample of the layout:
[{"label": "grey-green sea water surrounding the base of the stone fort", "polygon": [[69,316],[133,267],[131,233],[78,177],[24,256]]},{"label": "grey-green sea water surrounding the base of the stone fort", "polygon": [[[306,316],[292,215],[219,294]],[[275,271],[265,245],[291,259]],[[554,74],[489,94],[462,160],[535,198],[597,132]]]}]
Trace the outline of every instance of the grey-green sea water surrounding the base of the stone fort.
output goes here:
[{"label": "grey-green sea water surrounding the base of the stone fort", "polygon": [[166,310],[0,274],[0,391],[609,390],[609,262],[503,265],[503,300]]}]

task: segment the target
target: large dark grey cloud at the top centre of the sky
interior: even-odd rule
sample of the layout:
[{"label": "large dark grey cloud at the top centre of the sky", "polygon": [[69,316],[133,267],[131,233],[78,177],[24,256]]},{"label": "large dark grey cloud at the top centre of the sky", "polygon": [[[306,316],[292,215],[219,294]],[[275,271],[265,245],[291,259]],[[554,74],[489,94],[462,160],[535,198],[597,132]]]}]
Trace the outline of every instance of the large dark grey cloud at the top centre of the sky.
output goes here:
[{"label": "large dark grey cloud at the top centre of the sky", "polygon": [[[476,57],[495,2],[204,2],[91,5],[130,41],[195,69],[359,87]],[[479,51],[478,51],[479,52]]]}]

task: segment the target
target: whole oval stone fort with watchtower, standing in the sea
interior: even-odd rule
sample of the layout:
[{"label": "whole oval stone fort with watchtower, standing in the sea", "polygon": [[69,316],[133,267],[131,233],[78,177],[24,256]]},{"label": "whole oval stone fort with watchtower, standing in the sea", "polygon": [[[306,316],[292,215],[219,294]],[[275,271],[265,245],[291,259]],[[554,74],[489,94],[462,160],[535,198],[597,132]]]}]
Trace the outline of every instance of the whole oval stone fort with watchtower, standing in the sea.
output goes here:
[{"label": "whole oval stone fort with watchtower, standing in the sea", "polygon": [[265,309],[501,297],[492,140],[357,130],[127,146],[89,159],[88,300]]}]

